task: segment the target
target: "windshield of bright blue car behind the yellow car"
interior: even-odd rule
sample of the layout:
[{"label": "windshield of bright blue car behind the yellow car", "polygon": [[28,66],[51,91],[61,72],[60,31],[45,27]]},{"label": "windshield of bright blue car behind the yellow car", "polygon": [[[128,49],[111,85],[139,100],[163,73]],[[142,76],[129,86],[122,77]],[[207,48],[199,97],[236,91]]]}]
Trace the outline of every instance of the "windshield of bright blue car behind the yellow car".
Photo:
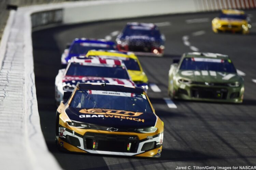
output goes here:
[{"label": "windshield of bright blue car behind the yellow car", "polygon": [[71,46],[70,54],[86,54],[89,50],[115,50],[115,47],[100,43],[74,43]]}]

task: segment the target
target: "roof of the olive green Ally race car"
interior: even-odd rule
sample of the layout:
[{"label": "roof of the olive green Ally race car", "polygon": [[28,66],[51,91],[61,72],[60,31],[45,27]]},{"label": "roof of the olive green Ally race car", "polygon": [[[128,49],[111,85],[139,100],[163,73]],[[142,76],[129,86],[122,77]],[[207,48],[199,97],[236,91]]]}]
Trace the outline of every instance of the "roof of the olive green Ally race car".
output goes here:
[{"label": "roof of the olive green Ally race car", "polygon": [[218,54],[218,53],[204,53],[204,52],[185,53],[185,57],[216,58],[216,59],[223,59],[223,60],[230,59],[228,55]]}]

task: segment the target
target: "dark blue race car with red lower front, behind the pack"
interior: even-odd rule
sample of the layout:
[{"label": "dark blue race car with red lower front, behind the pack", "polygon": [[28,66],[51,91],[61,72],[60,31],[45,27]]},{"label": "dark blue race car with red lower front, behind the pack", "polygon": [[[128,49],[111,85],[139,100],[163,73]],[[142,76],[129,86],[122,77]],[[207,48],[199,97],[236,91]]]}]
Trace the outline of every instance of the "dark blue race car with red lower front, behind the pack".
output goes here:
[{"label": "dark blue race car with red lower front, behind the pack", "polygon": [[163,55],[165,49],[165,36],[153,23],[128,22],[116,42],[119,51],[132,51],[138,55]]}]

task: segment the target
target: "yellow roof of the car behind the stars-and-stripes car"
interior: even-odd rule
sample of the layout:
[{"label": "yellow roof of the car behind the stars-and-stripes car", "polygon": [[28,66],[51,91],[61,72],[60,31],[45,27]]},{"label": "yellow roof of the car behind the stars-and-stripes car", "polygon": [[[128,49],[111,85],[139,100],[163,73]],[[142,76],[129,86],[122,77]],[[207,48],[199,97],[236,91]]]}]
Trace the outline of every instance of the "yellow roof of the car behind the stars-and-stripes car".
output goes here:
[{"label": "yellow roof of the car behind the stars-and-stripes car", "polygon": [[133,58],[137,59],[137,56],[134,55],[132,52],[121,52],[115,50],[89,50],[86,54],[87,57],[89,56],[109,56],[109,57],[126,57],[126,58]]}]

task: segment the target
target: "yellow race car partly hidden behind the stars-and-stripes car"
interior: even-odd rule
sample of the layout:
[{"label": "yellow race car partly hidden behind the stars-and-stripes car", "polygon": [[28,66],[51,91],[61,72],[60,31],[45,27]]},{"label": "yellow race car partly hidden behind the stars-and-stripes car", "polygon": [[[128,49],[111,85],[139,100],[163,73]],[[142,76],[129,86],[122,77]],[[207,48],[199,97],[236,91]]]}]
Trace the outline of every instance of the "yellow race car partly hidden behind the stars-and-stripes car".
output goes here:
[{"label": "yellow race car partly hidden behind the stars-and-stripes car", "polygon": [[100,58],[108,58],[122,60],[131,76],[131,80],[138,86],[142,87],[145,91],[148,89],[148,79],[143,71],[138,57],[132,52],[121,52],[114,50],[90,50],[86,54],[86,57],[97,56]]}]

